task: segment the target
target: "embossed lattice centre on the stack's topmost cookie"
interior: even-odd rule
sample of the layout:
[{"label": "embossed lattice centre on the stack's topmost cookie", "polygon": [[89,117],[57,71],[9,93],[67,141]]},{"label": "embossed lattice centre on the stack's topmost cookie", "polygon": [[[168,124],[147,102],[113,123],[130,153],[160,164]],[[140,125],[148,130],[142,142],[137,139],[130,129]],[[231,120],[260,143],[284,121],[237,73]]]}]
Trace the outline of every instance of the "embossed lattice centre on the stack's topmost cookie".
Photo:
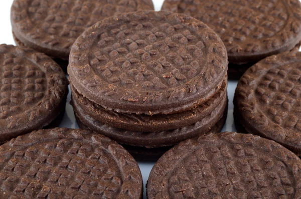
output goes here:
[{"label": "embossed lattice centre on the stack's topmost cookie", "polygon": [[158,90],[198,75],[202,68],[196,59],[204,50],[204,42],[184,25],[133,21],[103,33],[90,52],[90,64],[116,86]]}]

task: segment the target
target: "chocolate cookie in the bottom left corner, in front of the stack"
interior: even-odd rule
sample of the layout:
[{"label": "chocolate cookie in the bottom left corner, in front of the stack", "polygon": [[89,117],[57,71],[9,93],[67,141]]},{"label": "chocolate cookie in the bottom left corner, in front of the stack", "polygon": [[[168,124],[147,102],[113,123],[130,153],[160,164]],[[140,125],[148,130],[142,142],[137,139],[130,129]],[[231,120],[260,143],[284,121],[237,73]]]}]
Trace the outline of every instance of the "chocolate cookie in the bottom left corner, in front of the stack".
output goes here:
[{"label": "chocolate cookie in the bottom left corner, in front of the stack", "polygon": [[0,197],[142,198],[137,162],[88,130],[54,128],[0,146]]}]

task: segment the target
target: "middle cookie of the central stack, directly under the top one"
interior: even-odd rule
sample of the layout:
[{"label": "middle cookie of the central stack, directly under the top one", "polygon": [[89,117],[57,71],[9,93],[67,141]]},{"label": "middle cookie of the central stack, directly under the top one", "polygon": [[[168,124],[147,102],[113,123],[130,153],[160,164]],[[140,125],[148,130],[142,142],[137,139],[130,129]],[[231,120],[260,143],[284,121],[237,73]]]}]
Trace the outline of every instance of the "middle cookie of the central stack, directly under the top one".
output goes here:
[{"label": "middle cookie of the central stack, directly under the top one", "polygon": [[221,88],[208,101],[194,109],[174,114],[118,113],[107,110],[82,96],[72,86],[72,83],[70,87],[73,99],[76,100],[83,111],[103,124],[131,131],[160,132],[191,125],[217,108],[222,101],[225,101],[227,95],[227,77],[224,79]]}]

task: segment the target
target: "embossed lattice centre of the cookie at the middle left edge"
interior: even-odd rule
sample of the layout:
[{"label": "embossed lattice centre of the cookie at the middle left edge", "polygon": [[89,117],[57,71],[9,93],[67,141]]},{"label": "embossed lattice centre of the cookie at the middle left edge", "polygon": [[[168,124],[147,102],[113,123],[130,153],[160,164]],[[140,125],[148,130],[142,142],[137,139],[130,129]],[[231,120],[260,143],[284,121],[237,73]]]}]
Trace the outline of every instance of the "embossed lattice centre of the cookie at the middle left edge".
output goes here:
[{"label": "embossed lattice centre of the cookie at the middle left edge", "polygon": [[0,54],[0,118],[5,119],[35,106],[47,88],[45,73],[31,60],[14,51]]}]

